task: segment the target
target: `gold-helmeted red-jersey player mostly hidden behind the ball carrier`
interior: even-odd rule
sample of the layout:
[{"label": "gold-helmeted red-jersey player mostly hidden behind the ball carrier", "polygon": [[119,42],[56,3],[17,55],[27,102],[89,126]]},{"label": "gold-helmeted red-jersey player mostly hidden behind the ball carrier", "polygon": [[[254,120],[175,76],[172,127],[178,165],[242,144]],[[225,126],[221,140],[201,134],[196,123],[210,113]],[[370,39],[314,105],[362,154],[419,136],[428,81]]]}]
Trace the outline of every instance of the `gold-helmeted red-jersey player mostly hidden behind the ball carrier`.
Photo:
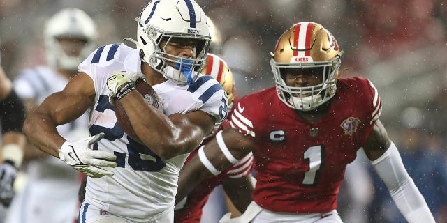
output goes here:
[{"label": "gold-helmeted red-jersey player mostly hidden behind the ball carrier", "polygon": [[[212,38],[213,41],[213,38]],[[233,100],[237,100],[237,94],[234,89],[233,82],[233,74],[228,68],[225,61],[219,58],[214,54],[207,55],[207,63],[203,67],[201,71],[204,75],[211,75],[214,79],[221,84],[223,89],[226,91],[228,96],[228,114],[231,114],[233,109]],[[208,135],[203,141],[202,145],[205,145],[207,141],[214,139],[215,134],[222,129],[229,128],[230,122],[228,119],[223,120],[222,123],[216,125],[212,134]],[[189,154],[189,157],[186,159],[186,163],[196,155],[198,149],[192,151]],[[244,210],[251,201],[251,199],[247,199],[247,194],[251,194],[252,192],[252,183],[251,183],[251,169],[253,166],[253,155],[249,153],[246,157],[244,157],[240,162],[235,162],[233,167],[225,169],[218,176],[207,179],[200,183],[187,197],[182,199],[182,201],[176,201],[175,206],[175,220],[177,223],[186,223],[186,222],[200,222],[202,219],[203,207],[205,203],[208,201],[208,197],[212,192],[215,193],[214,188],[217,185],[222,184],[223,190],[226,194],[229,194],[229,197],[236,203],[237,209]],[[223,196],[223,194],[218,194],[218,196]],[[223,201],[223,197],[217,197]],[[216,210],[219,209],[217,203],[209,203],[210,212],[209,215],[216,215]],[[212,216],[204,217],[205,222],[211,221]],[[219,217],[220,218],[220,217]],[[217,218],[217,220],[219,220]]]}]

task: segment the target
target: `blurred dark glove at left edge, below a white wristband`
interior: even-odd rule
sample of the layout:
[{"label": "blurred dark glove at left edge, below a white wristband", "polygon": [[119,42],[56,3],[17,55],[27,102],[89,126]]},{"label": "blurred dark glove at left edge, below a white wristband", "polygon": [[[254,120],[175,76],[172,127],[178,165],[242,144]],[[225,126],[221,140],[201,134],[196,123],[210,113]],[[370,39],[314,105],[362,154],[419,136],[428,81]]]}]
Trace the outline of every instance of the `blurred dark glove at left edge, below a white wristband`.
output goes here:
[{"label": "blurred dark glove at left edge, below a white wristband", "polygon": [[0,164],[0,203],[8,207],[14,196],[14,180],[17,168],[12,162],[5,161]]}]

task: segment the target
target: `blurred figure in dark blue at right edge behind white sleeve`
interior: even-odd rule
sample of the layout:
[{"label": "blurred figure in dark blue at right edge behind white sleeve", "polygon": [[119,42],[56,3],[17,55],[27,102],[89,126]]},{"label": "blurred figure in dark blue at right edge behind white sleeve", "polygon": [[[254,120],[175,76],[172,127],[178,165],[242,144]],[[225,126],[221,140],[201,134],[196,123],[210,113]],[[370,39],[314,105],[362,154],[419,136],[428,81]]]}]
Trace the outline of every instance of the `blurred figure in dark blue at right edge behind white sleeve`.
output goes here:
[{"label": "blurred figure in dark blue at right edge behind white sleeve", "polygon": [[[404,109],[409,112],[414,107]],[[402,112],[402,116],[407,115]],[[424,116],[420,114],[420,116]],[[410,117],[409,117],[410,118]],[[434,139],[436,134],[427,132],[429,127],[425,125],[414,125],[402,117],[402,127],[400,131],[401,140],[397,141],[401,150],[402,162],[405,164],[409,175],[415,179],[415,184],[420,188],[420,193],[425,197],[427,206],[437,220],[437,223],[447,222],[447,168],[446,157],[439,148],[430,148],[430,138]],[[416,121],[418,117],[411,117],[411,121]],[[378,198],[372,202],[369,219],[374,222],[393,223],[404,222],[404,217],[397,211],[390,194],[384,189],[383,183],[378,176],[372,173],[374,179],[374,194]],[[379,213],[381,213],[379,215]],[[444,216],[444,217],[443,217]]]}]

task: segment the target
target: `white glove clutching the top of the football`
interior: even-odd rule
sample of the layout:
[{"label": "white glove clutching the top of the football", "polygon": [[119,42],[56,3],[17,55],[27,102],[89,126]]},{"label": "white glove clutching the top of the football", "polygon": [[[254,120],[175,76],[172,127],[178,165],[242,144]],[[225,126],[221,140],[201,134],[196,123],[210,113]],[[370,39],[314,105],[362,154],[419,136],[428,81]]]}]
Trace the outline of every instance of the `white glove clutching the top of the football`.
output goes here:
[{"label": "white glove clutching the top of the football", "polygon": [[113,102],[117,98],[117,91],[120,86],[126,83],[135,84],[137,79],[144,79],[145,75],[141,72],[127,72],[127,71],[115,71],[112,72],[110,77],[107,79],[107,89],[109,95],[110,104],[114,105]]}]

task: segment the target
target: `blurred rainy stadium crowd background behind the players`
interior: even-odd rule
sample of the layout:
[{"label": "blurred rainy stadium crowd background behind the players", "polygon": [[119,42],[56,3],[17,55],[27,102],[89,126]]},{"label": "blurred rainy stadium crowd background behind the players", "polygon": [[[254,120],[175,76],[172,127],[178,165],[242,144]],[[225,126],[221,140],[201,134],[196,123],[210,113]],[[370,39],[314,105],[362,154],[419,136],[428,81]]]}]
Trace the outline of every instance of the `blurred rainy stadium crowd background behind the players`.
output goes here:
[{"label": "blurred rainy stadium crowd background behind the players", "polygon": [[[344,49],[341,77],[379,89],[381,121],[437,222],[447,222],[447,2],[445,0],[197,0],[221,32],[221,55],[240,95],[273,86],[270,55],[296,22],[323,24]],[[85,10],[98,45],[135,38],[147,1],[0,0],[1,66],[14,79],[45,63],[44,22],[61,8]],[[133,43],[126,42],[134,47]],[[359,158],[346,171],[339,212],[349,222],[404,222],[385,185]]]}]

